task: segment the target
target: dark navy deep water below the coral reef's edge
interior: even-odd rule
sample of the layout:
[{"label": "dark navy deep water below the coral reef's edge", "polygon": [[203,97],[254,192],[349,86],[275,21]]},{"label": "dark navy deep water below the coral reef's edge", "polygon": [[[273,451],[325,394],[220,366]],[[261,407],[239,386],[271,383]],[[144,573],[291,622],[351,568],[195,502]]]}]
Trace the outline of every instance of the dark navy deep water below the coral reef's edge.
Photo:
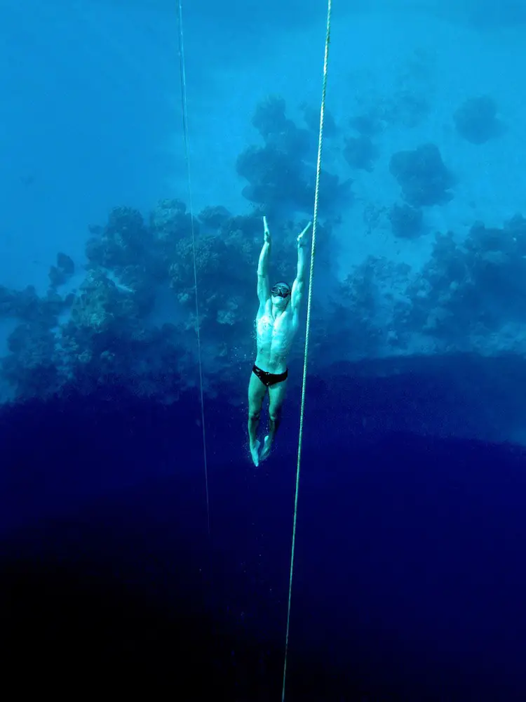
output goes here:
[{"label": "dark navy deep water below the coral reef's edge", "polygon": [[[522,699],[523,450],[360,432],[382,383],[311,380],[287,698]],[[280,698],[297,404],[256,471],[244,409],[206,402],[210,536],[199,412],[109,387],[3,409],[6,670]]]}]

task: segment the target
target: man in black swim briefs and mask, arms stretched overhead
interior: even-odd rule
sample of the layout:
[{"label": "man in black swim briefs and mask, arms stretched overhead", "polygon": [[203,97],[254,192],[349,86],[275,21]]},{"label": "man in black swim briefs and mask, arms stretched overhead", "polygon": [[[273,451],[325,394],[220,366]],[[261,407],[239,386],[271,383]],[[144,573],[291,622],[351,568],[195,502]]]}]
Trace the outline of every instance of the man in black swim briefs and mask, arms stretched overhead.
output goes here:
[{"label": "man in black swim briefs and mask, arms stretched overhead", "polygon": [[[281,421],[281,407],[287,389],[287,357],[298,326],[299,307],[305,286],[305,234],[311,223],[297,237],[297,273],[292,288],[288,283],[269,282],[271,236],[267,218],[263,218],[264,243],[257,264],[256,315],[257,357],[248,384],[248,439],[254,465],[269,456],[274,436]],[[265,396],[269,393],[269,434],[259,452],[257,439],[259,416]]]}]

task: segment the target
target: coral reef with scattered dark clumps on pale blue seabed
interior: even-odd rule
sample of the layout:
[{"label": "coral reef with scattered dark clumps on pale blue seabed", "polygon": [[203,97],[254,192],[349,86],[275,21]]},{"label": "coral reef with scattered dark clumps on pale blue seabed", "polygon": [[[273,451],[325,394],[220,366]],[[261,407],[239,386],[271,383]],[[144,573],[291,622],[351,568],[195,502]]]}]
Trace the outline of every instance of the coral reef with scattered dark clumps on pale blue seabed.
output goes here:
[{"label": "coral reef with scattered dark clumps on pale blue seabed", "polygon": [[[408,104],[414,114],[424,109],[417,107],[419,100]],[[474,126],[477,111],[468,107],[463,128],[471,129],[471,140],[473,134],[480,139],[487,126]],[[494,112],[490,108],[486,117]],[[285,280],[295,275],[295,239],[311,217],[315,115],[303,110],[307,129],[288,119],[281,98],[258,105],[253,124],[263,145],[248,147],[237,162],[248,181],[250,213],[236,215],[211,204],[192,219],[177,199],[163,199],[149,213],[118,206],[106,223],[89,227],[84,268],[60,252],[43,295],[32,286],[0,286],[0,317],[13,324],[1,374],[16,395],[43,397],[72,386],[90,392],[112,380],[172,402],[198,383],[197,313],[205,392],[237,383],[254,352],[262,214],[274,235],[272,274]],[[339,157],[370,170],[376,157],[372,137],[386,128],[388,116],[384,110],[353,117],[359,136],[346,140],[329,121],[345,144]],[[418,245],[431,244],[423,208],[445,203],[454,185],[438,147],[395,153],[390,170],[403,202],[389,207],[365,201],[365,234],[383,230],[400,249],[417,246],[419,237]],[[526,352],[525,218],[517,215],[501,228],[472,223],[467,233],[435,232],[429,260],[415,270],[380,256],[365,256],[342,270],[333,229],[342,225],[339,204],[348,204],[350,196],[349,183],[323,171],[316,247],[321,286],[311,317],[314,362],[490,354],[504,347]],[[299,355],[298,345],[292,359]]]}]

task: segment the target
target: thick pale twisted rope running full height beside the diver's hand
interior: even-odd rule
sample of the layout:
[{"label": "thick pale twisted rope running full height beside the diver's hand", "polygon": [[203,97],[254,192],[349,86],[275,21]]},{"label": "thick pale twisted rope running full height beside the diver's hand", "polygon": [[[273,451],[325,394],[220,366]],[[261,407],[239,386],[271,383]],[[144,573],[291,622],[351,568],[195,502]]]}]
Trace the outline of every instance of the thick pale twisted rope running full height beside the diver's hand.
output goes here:
[{"label": "thick pale twisted rope running full height beside the diver's hand", "polygon": [[303,380],[302,380],[302,403],[299,411],[299,439],[297,447],[297,463],[296,463],[296,486],[294,494],[294,519],[292,522],[292,548],[290,552],[290,575],[288,585],[288,606],[287,606],[287,628],[285,633],[285,658],[283,661],[283,686],[281,688],[281,701],[285,702],[285,684],[287,682],[287,663],[288,663],[288,644],[290,635],[290,605],[292,602],[292,578],[294,575],[294,557],[296,548],[296,527],[297,527],[297,505],[299,496],[299,474],[302,465],[302,443],[303,443],[303,425],[305,413],[305,390],[306,390],[306,373],[307,362],[309,359],[309,338],[311,331],[311,307],[312,307],[312,281],[314,274],[314,256],[316,254],[316,232],[318,230],[318,204],[320,199],[320,178],[321,178],[321,152],[323,145],[323,123],[325,121],[325,95],[327,93],[327,72],[329,65],[329,46],[330,46],[330,15],[332,11],[332,0],[328,0],[327,6],[327,29],[325,34],[325,54],[323,57],[323,87],[321,92],[321,107],[320,107],[320,131],[318,133],[318,159],[316,161],[316,188],[314,190],[314,213],[312,226],[312,242],[311,242],[311,265],[309,270],[309,293],[307,297],[307,317],[305,331],[305,351],[303,357]]}]

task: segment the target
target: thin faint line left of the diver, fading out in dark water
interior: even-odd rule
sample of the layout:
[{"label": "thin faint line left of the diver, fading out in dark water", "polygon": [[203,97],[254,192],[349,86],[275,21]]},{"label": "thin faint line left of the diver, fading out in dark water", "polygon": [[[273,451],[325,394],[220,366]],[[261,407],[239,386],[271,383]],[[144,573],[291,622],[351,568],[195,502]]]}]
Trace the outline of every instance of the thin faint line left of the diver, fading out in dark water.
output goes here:
[{"label": "thin faint line left of the diver, fading out in dark water", "polygon": [[205,491],[206,491],[206,521],[208,536],[210,536],[210,497],[208,494],[208,461],[206,457],[206,430],[205,430],[205,399],[203,394],[203,355],[201,352],[201,324],[199,318],[199,301],[197,295],[197,265],[196,265],[196,230],[194,224],[194,202],[191,189],[190,150],[188,139],[188,106],[187,106],[187,78],[184,69],[184,42],[182,34],[182,0],[177,0],[177,20],[179,22],[179,69],[181,74],[181,103],[182,103],[182,128],[184,140],[184,161],[187,166],[188,201],[191,220],[191,248],[194,256],[194,288],[196,291],[196,331],[197,354],[199,361],[199,397],[201,399],[201,427],[203,428],[203,461],[205,465]]}]

